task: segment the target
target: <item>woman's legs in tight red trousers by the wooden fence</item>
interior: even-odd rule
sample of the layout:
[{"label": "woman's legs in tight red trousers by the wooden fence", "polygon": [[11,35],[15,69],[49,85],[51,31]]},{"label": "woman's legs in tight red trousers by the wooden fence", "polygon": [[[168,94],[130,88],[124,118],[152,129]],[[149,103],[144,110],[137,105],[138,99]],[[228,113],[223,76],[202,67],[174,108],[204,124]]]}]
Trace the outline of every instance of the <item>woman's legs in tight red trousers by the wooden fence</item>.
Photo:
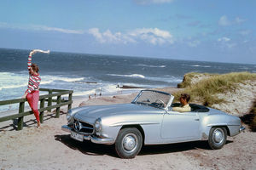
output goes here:
[{"label": "woman's legs in tight red trousers by the wooden fence", "polygon": [[40,119],[38,112],[39,91],[34,91],[31,94],[27,94],[26,99],[38,121],[38,127],[40,127]]}]

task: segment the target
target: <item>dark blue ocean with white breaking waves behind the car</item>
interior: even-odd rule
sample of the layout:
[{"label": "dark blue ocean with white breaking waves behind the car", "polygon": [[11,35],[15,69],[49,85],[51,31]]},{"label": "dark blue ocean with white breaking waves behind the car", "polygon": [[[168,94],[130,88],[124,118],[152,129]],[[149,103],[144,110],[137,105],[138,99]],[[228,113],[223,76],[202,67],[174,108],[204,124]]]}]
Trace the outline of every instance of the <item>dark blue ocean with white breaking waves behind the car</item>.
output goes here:
[{"label": "dark blue ocean with white breaking waves behind the car", "polygon": [[[20,98],[26,91],[29,52],[0,48],[0,100]],[[72,89],[74,96],[86,98],[95,93],[116,94],[117,85],[176,87],[191,71],[256,72],[256,65],[61,52],[34,54],[32,63],[39,65],[40,88]]]}]

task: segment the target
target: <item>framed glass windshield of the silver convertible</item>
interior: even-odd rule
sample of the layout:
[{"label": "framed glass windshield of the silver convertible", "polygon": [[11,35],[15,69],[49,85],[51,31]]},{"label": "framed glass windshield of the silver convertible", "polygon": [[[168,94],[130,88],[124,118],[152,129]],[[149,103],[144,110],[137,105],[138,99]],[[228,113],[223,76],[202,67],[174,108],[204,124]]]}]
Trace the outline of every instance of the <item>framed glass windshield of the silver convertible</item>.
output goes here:
[{"label": "framed glass windshield of the silver convertible", "polygon": [[171,94],[154,90],[143,90],[137,95],[132,103],[150,105],[157,108],[166,108],[170,99],[172,99]]}]

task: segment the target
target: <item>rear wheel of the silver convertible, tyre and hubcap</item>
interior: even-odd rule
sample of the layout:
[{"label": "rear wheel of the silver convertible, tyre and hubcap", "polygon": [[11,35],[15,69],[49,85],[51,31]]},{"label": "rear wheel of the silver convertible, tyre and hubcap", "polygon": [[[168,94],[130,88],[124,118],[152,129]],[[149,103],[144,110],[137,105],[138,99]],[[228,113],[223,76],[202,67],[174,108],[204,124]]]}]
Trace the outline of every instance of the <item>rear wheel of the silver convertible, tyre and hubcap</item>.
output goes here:
[{"label": "rear wheel of the silver convertible, tyre and hubcap", "polygon": [[225,127],[212,127],[209,133],[208,144],[212,150],[221,149],[227,140],[227,130]]}]

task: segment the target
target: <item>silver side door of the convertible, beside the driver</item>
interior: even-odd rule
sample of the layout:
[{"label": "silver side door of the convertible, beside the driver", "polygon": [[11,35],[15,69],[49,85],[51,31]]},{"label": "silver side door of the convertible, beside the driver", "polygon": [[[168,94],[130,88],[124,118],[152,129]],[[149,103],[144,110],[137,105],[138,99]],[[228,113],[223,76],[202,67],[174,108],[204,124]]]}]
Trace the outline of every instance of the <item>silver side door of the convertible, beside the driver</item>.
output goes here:
[{"label": "silver side door of the convertible, beside the driver", "polygon": [[161,138],[170,142],[199,139],[199,125],[197,112],[166,111],[161,125]]}]

